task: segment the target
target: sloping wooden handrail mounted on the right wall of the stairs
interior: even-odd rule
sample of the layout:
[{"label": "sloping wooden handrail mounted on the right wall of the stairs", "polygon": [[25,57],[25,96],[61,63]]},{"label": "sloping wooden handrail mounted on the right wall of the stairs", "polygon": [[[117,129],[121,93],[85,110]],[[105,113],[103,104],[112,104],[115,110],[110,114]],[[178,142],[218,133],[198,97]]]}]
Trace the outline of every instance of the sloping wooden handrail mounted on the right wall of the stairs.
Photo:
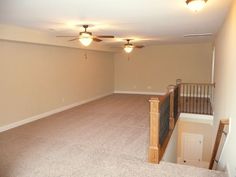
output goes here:
[{"label": "sloping wooden handrail mounted on the right wall of the stairs", "polygon": [[218,152],[219,149],[219,145],[220,145],[220,141],[224,132],[224,128],[226,125],[229,125],[229,120],[225,119],[225,120],[221,120],[219,127],[218,127],[218,131],[217,131],[217,135],[216,135],[216,140],[215,140],[215,145],[212,151],[212,156],[211,156],[211,160],[210,160],[210,164],[209,164],[209,169],[213,168],[214,162],[215,162],[215,158],[216,158],[216,154]]}]

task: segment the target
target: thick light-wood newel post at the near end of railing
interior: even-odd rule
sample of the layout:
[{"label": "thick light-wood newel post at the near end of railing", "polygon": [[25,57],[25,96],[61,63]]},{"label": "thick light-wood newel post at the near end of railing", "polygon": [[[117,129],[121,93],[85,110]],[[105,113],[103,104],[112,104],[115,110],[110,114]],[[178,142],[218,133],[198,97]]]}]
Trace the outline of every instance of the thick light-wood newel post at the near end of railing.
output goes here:
[{"label": "thick light-wood newel post at the near end of railing", "polygon": [[159,147],[159,132],[160,132],[160,112],[159,99],[151,98],[150,102],[150,143],[148,161],[150,163],[159,163],[160,147]]}]

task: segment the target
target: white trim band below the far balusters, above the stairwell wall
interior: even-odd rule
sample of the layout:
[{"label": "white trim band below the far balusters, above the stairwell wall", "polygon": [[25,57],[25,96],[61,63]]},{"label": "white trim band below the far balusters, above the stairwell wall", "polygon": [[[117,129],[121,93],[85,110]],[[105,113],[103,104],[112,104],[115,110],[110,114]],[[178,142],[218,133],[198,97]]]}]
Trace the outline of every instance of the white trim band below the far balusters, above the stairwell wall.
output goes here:
[{"label": "white trim band below the far balusters, above the stairwell wall", "polygon": [[213,125],[213,116],[211,115],[181,113],[179,118],[184,121]]}]

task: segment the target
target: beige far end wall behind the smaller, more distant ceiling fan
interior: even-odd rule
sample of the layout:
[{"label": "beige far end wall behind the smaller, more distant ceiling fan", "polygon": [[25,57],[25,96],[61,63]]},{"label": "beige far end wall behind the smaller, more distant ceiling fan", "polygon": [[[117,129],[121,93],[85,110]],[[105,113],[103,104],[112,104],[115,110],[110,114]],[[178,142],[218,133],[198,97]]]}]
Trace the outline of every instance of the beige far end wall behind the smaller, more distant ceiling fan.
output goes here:
[{"label": "beige far end wall behind the smaller, more distant ceiling fan", "polygon": [[115,54],[115,90],[165,92],[178,78],[184,82],[210,82],[212,44],[150,46],[130,55]]}]

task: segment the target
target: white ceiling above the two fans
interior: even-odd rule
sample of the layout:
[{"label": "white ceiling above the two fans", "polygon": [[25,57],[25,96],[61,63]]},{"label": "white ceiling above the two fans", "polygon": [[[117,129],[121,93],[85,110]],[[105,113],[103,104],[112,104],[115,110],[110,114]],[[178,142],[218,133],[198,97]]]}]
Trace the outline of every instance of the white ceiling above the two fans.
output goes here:
[{"label": "white ceiling above the two fans", "polygon": [[185,0],[0,0],[0,23],[46,30],[55,36],[74,35],[82,30],[79,25],[88,23],[94,25],[89,30],[94,34],[135,38],[144,45],[209,41],[211,37],[183,36],[215,34],[230,3],[208,0],[196,13]]}]

